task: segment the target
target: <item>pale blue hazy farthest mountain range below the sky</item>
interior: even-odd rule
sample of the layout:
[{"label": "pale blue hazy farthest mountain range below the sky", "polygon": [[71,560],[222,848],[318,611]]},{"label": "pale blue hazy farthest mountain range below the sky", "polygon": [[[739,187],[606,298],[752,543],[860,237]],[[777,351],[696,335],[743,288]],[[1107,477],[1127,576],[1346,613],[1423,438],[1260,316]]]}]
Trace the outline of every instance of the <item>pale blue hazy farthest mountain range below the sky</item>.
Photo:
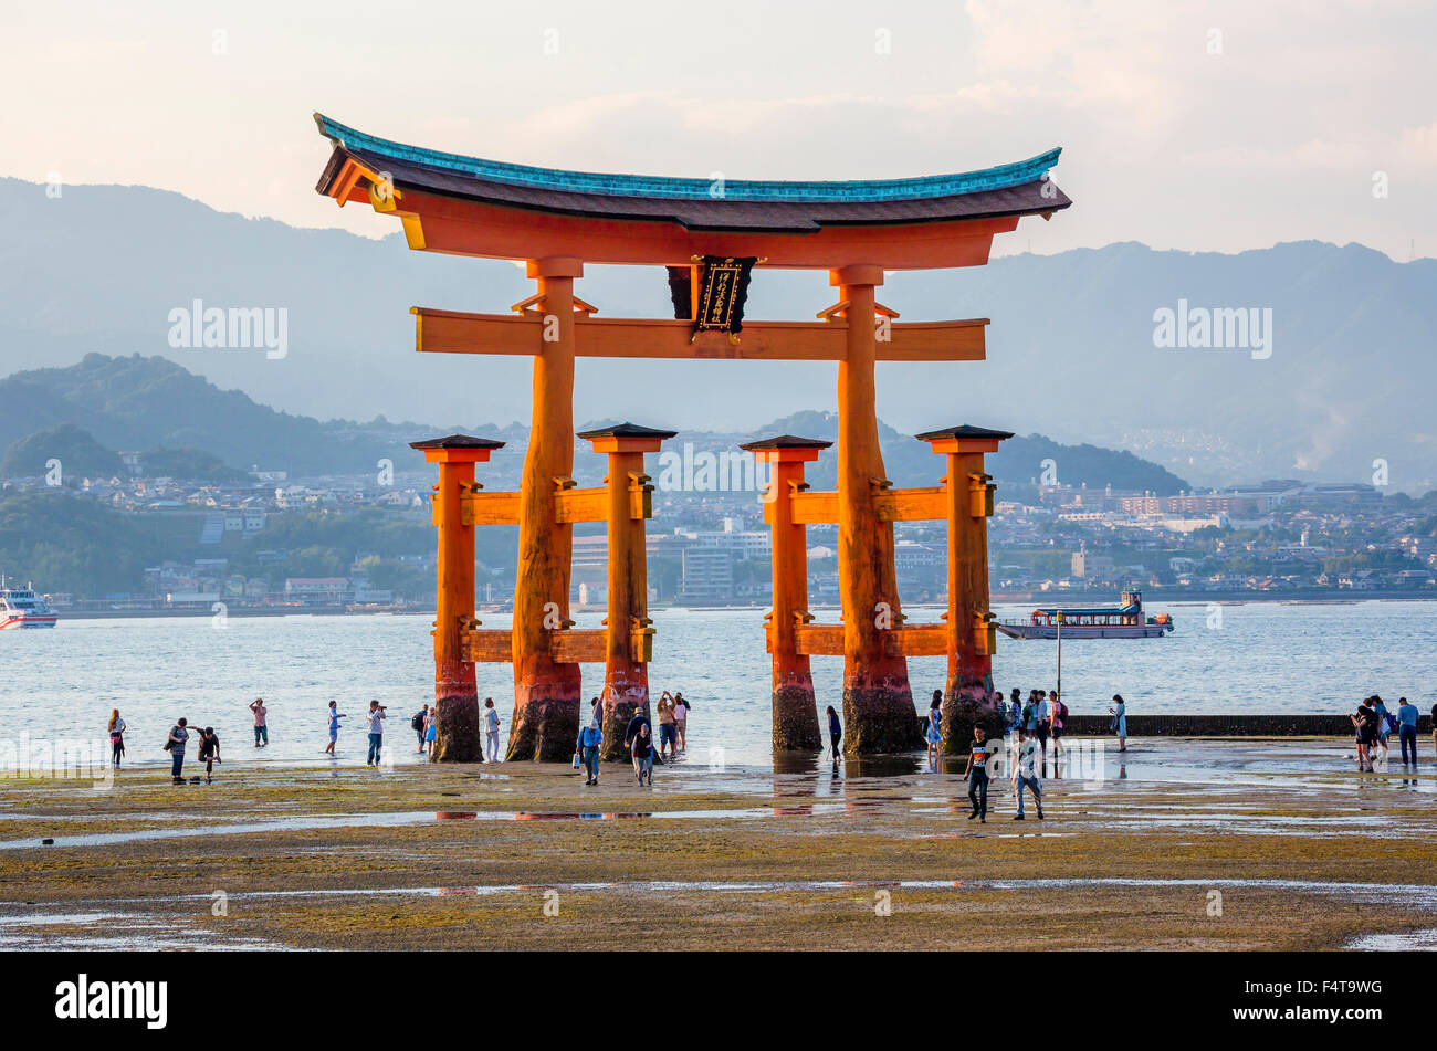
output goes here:
[{"label": "pale blue hazy farthest mountain range below the sky", "polygon": [[[0,179],[0,375],[91,352],[161,355],[276,406],[269,434],[246,439],[250,451],[228,449],[231,464],[305,462],[289,429],[297,416],[375,421],[329,432],[355,458],[394,448],[384,419],[527,419],[529,362],[412,350],[411,306],[503,312],[530,294],[509,263],[414,253],[397,233],[368,240],[249,220],[139,187],[49,198],[40,184]],[[391,227],[376,215],[374,228]],[[670,310],[657,268],[589,267],[578,290],[606,316]],[[892,274],[879,299],[904,320],[993,322],[987,362],[879,368],[879,415],[905,434],[957,422],[1040,432],[1132,451],[1198,485],[1368,481],[1378,459],[1394,490],[1437,485],[1434,260],[1313,241],[1236,256],[1127,243]],[[171,346],[171,312],[195,300],[285,309],[283,356]],[[822,273],[760,270],[747,314],[812,317],[832,300]],[[1270,345],[1161,347],[1155,314],[1190,309],[1270,310]],[[145,422],[203,431],[172,382],[174,399],[154,392],[165,411]],[[583,360],[575,412],[737,432],[832,408],[833,389],[823,363]]]}]

